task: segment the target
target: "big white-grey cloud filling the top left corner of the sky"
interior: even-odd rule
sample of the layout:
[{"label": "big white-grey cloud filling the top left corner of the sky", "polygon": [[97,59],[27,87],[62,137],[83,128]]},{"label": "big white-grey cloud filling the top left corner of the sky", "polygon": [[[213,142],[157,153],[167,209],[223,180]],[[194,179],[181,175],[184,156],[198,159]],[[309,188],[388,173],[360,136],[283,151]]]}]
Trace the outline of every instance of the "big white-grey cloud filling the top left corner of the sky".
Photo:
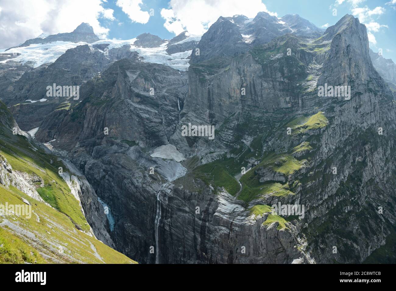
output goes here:
[{"label": "big white-grey cloud filling the top left corner of the sky", "polygon": [[82,22],[89,23],[95,34],[103,38],[109,29],[102,27],[98,19],[114,19],[113,10],[101,6],[103,2],[105,0],[0,0],[0,48],[17,46],[43,32],[71,32]]}]

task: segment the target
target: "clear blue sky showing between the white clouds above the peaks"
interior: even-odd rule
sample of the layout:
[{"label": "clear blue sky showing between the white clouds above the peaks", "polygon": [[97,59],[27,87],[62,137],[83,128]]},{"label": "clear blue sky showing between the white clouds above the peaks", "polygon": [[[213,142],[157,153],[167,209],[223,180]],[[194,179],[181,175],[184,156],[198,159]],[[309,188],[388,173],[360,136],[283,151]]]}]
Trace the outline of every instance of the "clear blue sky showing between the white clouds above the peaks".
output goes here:
[{"label": "clear blue sky showing between the white clouds above the peaks", "polygon": [[[339,5],[336,3],[337,0],[263,0],[262,2],[267,7],[268,11],[277,13],[278,17],[285,14],[296,13],[308,19],[318,27],[326,24],[330,26],[334,25],[346,13],[352,14],[352,10],[356,8],[366,8],[367,6],[367,11],[372,11],[377,7],[381,7],[384,9],[383,13],[371,15],[370,19],[366,19],[366,22],[375,22],[379,25],[386,25],[388,27],[380,27],[378,31],[372,32],[377,43],[370,43],[370,47],[374,51],[378,51],[379,48],[382,48],[384,57],[392,58],[396,62],[396,40],[394,37],[394,31],[396,30],[396,10],[394,7],[396,7],[396,5],[393,5],[392,8],[392,5],[386,4],[390,1],[391,0],[344,0],[343,3]],[[185,2],[188,2],[188,0],[185,0]],[[246,1],[241,2],[246,3]],[[355,4],[356,2],[357,4]],[[173,5],[173,7],[175,7],[175,5]],[[115,1],[109,0],[107,3],[103,4],[103,7],[114,10],[113,15],[116,19],[114,21],[109,21],[107,19],[100,20],[102,26],[110,29],[109,38],[129,39],[143,32],[150,32],[161,38],[172,38],[175,36],[175,33],[169,32],[164,27],[165,19],[161,16],[162,9],[170,8],[168,0],[143,0],[143,3],[140,5],[141,10],[150,11],[150,9],[153,9],[152,11],[154,11],[154,15],[151,16],[145,24],[132,22],[128,15],[115,4]],[[217,9],[216,5],[214,5],[213,8]],[[333,16],[334,8],[337,9],[337,16]],[[219,9],[218,16],[220,16],[221,10],[222,9]],[[197,13],[200,12],[201,11],[197,11]],[[191,11],[191,13],[194,12]],[[358,15],[356,14],[355,16]]]}]

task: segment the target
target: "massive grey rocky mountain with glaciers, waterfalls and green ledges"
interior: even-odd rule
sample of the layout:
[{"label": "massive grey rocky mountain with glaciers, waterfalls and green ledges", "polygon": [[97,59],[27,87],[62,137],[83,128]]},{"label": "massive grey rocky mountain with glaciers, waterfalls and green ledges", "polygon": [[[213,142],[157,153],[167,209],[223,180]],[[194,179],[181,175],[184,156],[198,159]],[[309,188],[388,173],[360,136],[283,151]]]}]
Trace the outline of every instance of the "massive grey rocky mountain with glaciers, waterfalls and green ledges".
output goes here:
[{"label": "massive grey rocky mountain with glaciers, waterfalls and green ledges", "polygon": [[[1,55],[6,72],[26,58],[18,49]],[[68,204],[55,195],[57,210],[133,260],[385,262],[394,253],[396,103],[372,59],[352,15],[322,32],[298,15],[260,12],[219,17],[201,38],[76,46],[5,78],[0,97],[22,129],[39,127],[27,139],[53,163],[37,166],[56,173],[63,163],[85,185]],[[18,105],[53,81],[80,84],[80,98]],[[27,149],[18,155],[34,157]],[[56,206],[58,178],[35,197]]]}]

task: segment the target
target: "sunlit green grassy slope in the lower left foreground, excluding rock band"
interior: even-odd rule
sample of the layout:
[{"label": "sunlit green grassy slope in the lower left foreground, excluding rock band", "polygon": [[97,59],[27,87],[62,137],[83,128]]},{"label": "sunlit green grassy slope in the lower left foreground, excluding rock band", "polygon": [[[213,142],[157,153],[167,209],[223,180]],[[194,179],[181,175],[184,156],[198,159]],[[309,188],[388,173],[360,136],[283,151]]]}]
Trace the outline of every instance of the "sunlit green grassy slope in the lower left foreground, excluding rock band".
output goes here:
[{"label": "sunlit green grassy slope in the lower left foreground, excluding rock band", "polygon": [[30,218],[0,211],[0,263],[136,263],[91,236],[80,203],[58,173],[59,167],[68,169],[26,137],[13,135],[13,118],[1,101],[0,113],[1,160],[6,158],[12,171],[40,177],[44,186],[34,186],[50,205],[0,184],[0,205],[26,200],[32,206]]}]

